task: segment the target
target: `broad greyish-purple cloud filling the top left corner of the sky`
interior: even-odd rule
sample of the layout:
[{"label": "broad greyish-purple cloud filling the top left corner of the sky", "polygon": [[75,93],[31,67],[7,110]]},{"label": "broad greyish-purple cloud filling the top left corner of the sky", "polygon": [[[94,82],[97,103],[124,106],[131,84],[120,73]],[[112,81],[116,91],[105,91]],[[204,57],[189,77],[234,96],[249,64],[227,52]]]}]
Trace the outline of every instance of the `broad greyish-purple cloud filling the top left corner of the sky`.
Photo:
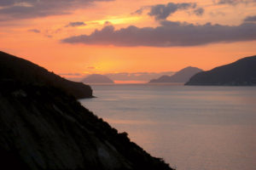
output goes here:
[{"label": "broad greyish-purple cloud filling the top left corner of the sky", "polygon": [[55,14],[69,14],[96,1],[112,0],[1,0],[0,20],[20,20]]}]

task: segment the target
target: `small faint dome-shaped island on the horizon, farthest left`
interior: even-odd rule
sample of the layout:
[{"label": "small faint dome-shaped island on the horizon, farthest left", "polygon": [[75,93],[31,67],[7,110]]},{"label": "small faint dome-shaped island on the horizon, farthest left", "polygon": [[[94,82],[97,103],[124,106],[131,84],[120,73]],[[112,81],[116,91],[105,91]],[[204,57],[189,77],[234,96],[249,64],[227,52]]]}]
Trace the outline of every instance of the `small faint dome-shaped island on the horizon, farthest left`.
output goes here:
[{"label": "small faint dome-shaped island on the horizon, farthest left", "polygon": [[84,82],[84,83],[91,83],[91,84],[94,84],[94,83],[106,83],[106,84],[113,84],[113,80],[111,80],[110,78],[108,78],[107,76],[104,76],[104,75],[100,75],[100,74],[93,74],[93,75],[90,75],[88,77],[85,77],[81,82]]}]

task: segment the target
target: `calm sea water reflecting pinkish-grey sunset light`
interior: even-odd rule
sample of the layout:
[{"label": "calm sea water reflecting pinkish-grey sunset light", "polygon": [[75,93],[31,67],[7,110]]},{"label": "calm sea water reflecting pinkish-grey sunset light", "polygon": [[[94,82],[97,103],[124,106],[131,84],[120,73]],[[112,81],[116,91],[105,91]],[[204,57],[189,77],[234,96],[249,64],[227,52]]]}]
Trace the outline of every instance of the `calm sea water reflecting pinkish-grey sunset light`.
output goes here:
[{"label": "calm sea water reflecting pinkish-grey sunset light", "polygon": [[256,169],[256,87],[92,88],[82,105],[177,170]]}]

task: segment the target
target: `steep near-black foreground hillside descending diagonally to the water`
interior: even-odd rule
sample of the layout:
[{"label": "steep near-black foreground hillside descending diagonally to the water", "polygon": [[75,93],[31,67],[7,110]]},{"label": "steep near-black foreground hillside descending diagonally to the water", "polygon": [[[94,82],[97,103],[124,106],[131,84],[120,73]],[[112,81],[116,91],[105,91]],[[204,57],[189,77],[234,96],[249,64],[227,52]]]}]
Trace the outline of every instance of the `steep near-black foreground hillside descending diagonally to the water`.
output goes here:
[{"label": "steep near-black foreground hillside descending diagonally to the water", "polygon": [[10,74],[0,78],[1,169],[172,169],[85,109],[73,94],[42,83],[44,74],[35,76],[33,67],[20,66],[29,71],[22,76],[25,71],[9,69],[16,62],[8,64],[1,63],[1,74]]}]

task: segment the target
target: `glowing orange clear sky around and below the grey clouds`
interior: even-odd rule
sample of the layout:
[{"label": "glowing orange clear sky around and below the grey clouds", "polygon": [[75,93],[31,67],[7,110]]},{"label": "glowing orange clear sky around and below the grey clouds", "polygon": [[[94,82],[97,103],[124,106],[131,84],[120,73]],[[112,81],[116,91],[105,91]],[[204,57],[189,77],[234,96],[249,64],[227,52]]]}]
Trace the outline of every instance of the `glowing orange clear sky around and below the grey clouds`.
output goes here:
[{"label": "glowing orange clear sky around and below the grey clouds", "polygon": [[[110,73],[110,72],[160,72],[178,71],[192,65],[203,70],[256,54],[254,41],[214,42],[195,46],[136,47],[115,44],[63,43],[67,37],[90,35],[102,30],[105,21],[111,22],[116,30],[127,26],[160,26],[158,20],[148,15],[150,6],[167,3],[197,3],[204,8],[201,16],[191,10],[178,10],[166,20],[187,22],[195,25],[212,24],[239,26],[247,16],[256,15],[256,3],[216,4],[211,0],[166,1],[166,0],[115,0],[96,2],[74,7],[40,17],[0,20],[0,50],[29,59],[55,73]],[[24,3],[30,7],[32,4]],[[23,3],[21,5],[24,5]],[[137,9],[143,14],[132,14]],[[1,7],[0,3],[0,14]],[[2,14],[3,15],[3,14]],[[8,14],[6,14],[8,15]],[[1,18],[0,18],[1,19]],[[70,22],[84,22],[86,26],[67,26]],[[34,31],[30,31],[34,30]],[[38,32],[35,32],[37,30]],[[217,35],[218,36],[218,35]]]}]

